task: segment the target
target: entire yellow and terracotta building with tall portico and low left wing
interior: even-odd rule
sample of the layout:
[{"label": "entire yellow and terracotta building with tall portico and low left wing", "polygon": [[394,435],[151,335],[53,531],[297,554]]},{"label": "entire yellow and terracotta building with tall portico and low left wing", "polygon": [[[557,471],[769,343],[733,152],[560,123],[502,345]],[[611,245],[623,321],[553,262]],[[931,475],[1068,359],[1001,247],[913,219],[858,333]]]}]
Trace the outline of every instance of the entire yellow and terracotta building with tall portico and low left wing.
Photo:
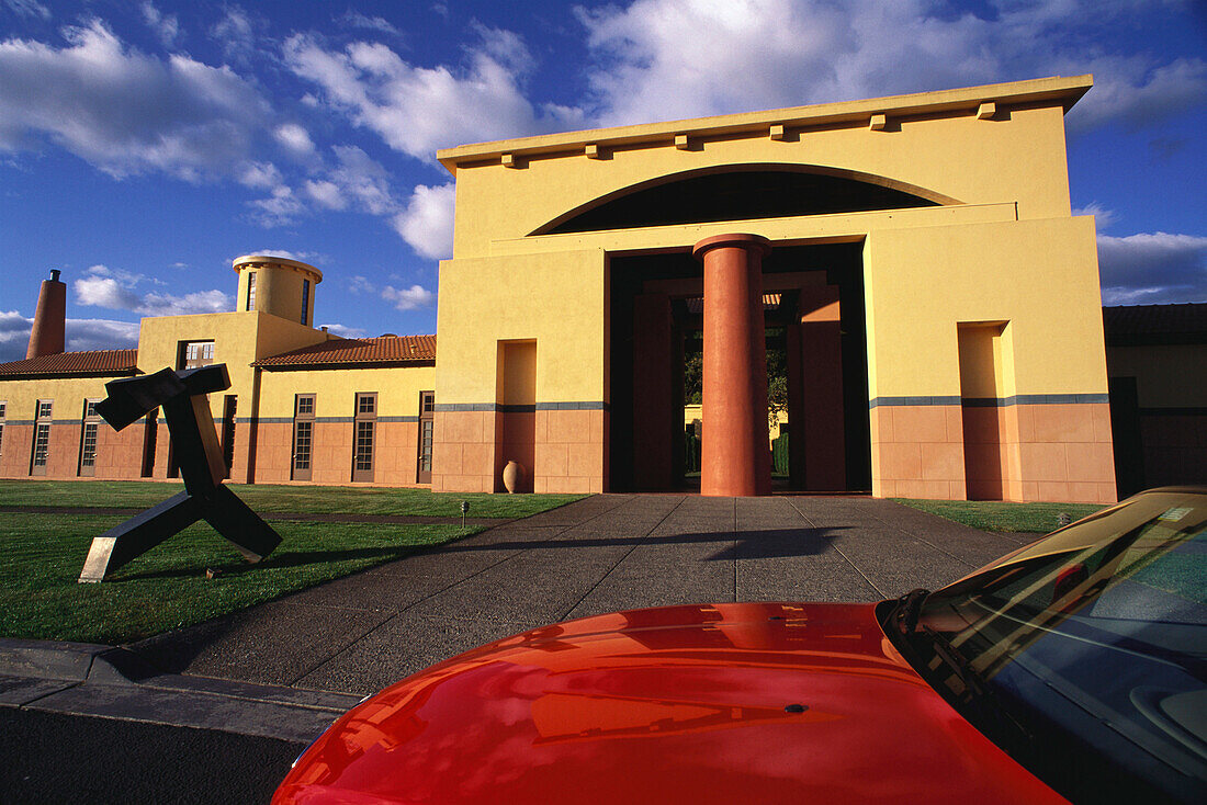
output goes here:
[{"label": "entire yellow and terracotta building with tall portico and low left wing", "polygon": [[[492,491],[514,460],[535,491],[676,489],[683,366],[702,351],[701,491],[765,494],[776,349],[791,489],[1114,501],[1095,226],[1072,215],[1065,153],[1063,115],[1091,84],[442,151],[456,218],[438,342],[337,339],[311,323],[317,270],[240,258],[235,313],[147,319],[136,358],[0,366],[0,474],[80,474],[105,377],[215,360],[237,480]],[[42,467],[47,430],[60,457]],[[170,474],[157,430],[112,434],[110,465]]]}]

